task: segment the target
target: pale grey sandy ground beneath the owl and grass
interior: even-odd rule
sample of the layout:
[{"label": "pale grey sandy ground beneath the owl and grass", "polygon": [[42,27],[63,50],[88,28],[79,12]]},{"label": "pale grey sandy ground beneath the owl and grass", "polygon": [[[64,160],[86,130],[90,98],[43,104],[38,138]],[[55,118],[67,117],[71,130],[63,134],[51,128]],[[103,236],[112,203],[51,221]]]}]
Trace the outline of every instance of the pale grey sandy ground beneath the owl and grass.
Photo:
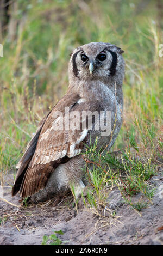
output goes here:
[{"label": "pale grey sandy ground beneath the owl and grass", "polygon": [[[8,182],[12,184],[12,174],[8,175]],[[5,220],[1,221],[0,245],[41,245],[43,235],[49,236],[60,229],[64,235],[58,237],[62,241],[68,240],[67,245],[163,245],[161,168],[150,184],[156,189],[153,202],[141,212],[125,204],[115,187],[108,198],[108,208],[116,209],[114,217],[100,206],[96,212],[87,209],[82,200],[78,209],[72,207],[71,194],[64,199],[58,198],[57,203],[54,200],[52,203],[17,207],[20,198],[12,198],[11,188],[5,184],[1,190],[3,200],[0,200],[0,216]],[[137,194],[133,199],[141,197]]]}]

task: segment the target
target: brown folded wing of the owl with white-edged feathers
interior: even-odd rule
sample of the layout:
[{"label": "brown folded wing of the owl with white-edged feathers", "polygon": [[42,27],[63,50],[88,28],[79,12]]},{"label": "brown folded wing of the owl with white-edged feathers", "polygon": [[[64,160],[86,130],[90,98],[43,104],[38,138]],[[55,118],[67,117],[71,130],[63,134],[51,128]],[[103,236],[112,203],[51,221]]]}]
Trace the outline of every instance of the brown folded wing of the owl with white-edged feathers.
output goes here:
[{"label": "brown folded wing of the owl with white-edged feathers", "polygon": [[[52,109],[40,129],[36,148],[33,149],[34,154],[29,160],[28,167],[22,171],[23,163],[21,162],[22,168],[18,169],[17,177],[21,176],[19,191],[22,197],[32,196],[42,190],[46,186],[49,176],[60,163],[68,161],[82,151],[83,142],[86,140],[88,132],[86,128],[83,129],[86,119],[82,119],[82,111],[84,109],[84,111],[92,112],[98,107],[98,103],[81,101],[77,94],[67,94]],[[67,129],[68,125],[70,129]],[[27,150],[30,147],[32,148],[32,145],[29,145]],[[23,175],[21,175],[22,173]],[[17,179],[14,187],[17,184]]]}]

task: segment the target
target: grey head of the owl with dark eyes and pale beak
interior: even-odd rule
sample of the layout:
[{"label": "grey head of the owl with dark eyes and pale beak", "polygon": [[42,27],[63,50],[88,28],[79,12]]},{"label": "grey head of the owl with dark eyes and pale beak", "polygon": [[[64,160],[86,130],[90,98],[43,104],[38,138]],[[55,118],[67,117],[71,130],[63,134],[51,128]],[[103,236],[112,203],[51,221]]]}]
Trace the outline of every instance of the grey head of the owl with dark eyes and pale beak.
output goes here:
[{"label": "grey head of the owl with dark eyes and pale beak", "polygon": [[70,79],[102,78],[123,80],[124,59],[121,48],[105,43],[90,42],[73,50],[69,63]]}]

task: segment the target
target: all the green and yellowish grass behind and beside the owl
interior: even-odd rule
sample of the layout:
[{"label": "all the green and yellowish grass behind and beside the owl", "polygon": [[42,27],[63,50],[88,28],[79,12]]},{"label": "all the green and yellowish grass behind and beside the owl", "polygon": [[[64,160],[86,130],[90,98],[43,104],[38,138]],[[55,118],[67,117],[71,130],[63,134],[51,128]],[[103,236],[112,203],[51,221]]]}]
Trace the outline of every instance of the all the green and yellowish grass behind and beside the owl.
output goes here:
[{"label": "all the green and yellowish grass behind and beside the owl", "polygon": [[124,50],[126,61],[124,120],[111,148],[122,154],[97,154],[96,145],[87,149],[84,157],[93,162],[87,200],[95,209],[105,205],[116,185],[128,204],[142,209],[146,203],[130,198],[142,193],[151,202],[154,191],[148,180],[161,165],[163,147],[163,23],[156,1],[145,6],[140,0],[17,2],[15,39],[9,40],[4,30],[0,41],[0,185],[10,171],[15,176],[37,124],[65,94],[71,50],[91,41],[111,42]]}]

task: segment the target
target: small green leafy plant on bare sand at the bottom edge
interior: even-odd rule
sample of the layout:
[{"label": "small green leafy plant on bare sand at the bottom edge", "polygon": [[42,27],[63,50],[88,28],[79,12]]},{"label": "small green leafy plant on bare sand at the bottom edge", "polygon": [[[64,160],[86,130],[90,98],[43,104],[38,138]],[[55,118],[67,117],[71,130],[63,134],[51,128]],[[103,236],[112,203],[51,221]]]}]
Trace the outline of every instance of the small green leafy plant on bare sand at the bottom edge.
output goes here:
[{"label": "small green leafy plant on bare sand at the bottom edge", "polygon": [[47,235],[43,236],[41,245],[47,245],[48,240],[52,240],[52,242],[49,243],[49,245],[62,245],[69,241],[62,241],[60,238],[57,237],[57,234],[64,235],[64,232],[62,230],[54,231],[54,234],[50,235],[49,237]]}]

